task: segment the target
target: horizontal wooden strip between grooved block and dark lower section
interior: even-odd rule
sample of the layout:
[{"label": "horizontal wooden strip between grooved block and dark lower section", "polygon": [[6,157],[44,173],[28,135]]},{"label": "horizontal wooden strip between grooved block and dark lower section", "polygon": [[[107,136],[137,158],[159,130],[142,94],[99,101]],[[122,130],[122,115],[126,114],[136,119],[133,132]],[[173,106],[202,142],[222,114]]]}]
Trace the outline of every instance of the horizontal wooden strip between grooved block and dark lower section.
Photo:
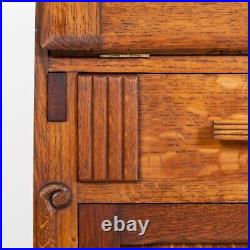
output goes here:
[{"label": "horizontal wooden strip between grooved block and dark lower section", "polygon": [[247,202],[248,183],[231,179],[183,182],[81,183],[79,203]]}]

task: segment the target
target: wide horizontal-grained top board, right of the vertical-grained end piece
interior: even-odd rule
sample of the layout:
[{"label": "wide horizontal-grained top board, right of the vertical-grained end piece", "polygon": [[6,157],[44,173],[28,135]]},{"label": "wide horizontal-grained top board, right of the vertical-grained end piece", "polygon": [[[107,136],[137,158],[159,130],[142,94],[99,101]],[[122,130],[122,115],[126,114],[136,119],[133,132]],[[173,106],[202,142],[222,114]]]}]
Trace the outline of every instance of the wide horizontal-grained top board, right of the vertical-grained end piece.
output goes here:
[{"label": "wide horizontal-grained top board, right of the vertical-grained end piece", "polygon": [[105,52],[247,52],[247,3],[107,2],[101,8]]}]

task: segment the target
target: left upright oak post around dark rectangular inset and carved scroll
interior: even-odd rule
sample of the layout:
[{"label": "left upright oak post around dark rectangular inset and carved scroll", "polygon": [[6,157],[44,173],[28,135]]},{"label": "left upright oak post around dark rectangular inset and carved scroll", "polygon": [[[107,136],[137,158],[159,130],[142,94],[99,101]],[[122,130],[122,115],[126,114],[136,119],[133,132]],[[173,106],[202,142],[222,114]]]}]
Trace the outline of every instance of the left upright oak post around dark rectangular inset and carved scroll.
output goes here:
[{"label": "left upright oak post around dark rectangular inset and carved scroll", "polygon": [[[48,53],[40,46],[41,3],[36,12],[36,73],[34,124],[34,247],[77,247],[77,162],[76,162],[76,83],[75,73],[67,74],[68,119],[47,122]],[[44,231],[44,200],[41,189],[49,183],[64,183],[71,189],[72,202],[57,213],[55,234]],[[59,202],[63,197],[56,195]],[[58,200],[59,199],[59,200]],[[55,237],[54,237],[55,235]]]}]

